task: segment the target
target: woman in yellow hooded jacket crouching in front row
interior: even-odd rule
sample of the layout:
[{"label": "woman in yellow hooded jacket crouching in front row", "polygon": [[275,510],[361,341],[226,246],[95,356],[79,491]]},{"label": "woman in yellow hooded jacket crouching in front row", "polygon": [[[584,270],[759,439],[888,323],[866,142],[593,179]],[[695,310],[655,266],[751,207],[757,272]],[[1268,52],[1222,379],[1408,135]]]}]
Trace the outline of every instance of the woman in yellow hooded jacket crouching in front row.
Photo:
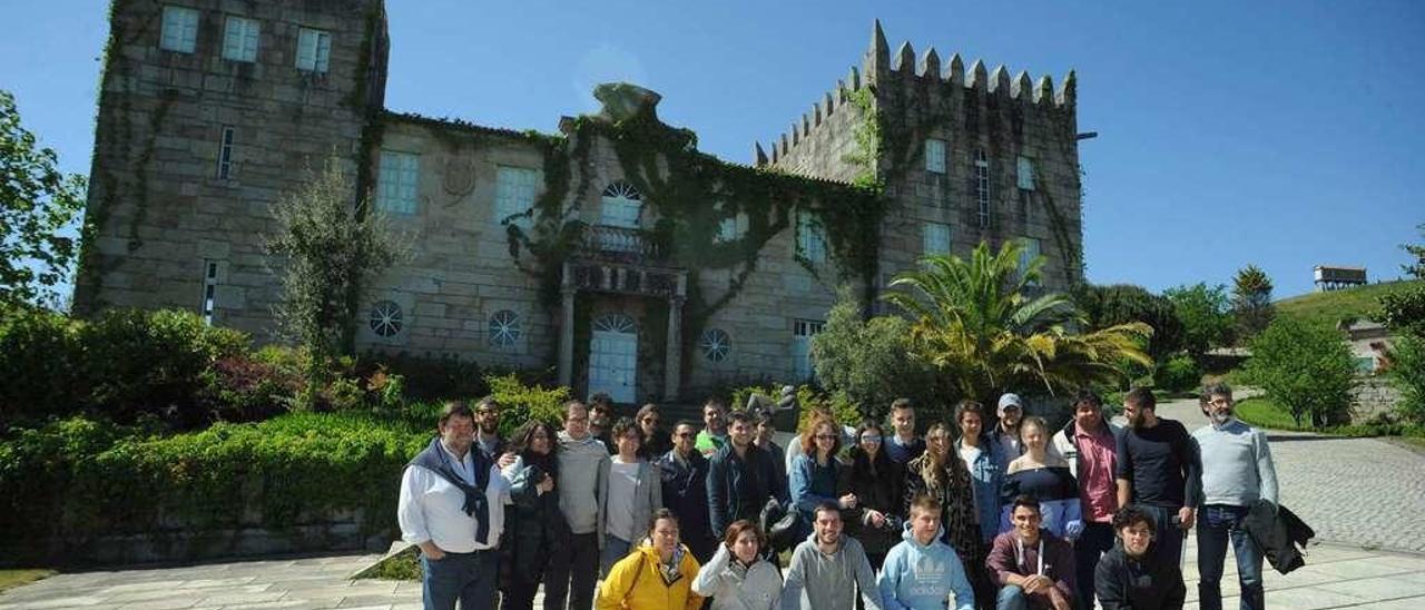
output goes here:
[{"label": "woman in yellow hooded jacket crouching in front row", "polygon": [[598,587],[598,610],[698,610],[703,597],[693,593],[698,560],[678,543],[678,517],[658,509],[648,523],[648,537],[614,563]]}]

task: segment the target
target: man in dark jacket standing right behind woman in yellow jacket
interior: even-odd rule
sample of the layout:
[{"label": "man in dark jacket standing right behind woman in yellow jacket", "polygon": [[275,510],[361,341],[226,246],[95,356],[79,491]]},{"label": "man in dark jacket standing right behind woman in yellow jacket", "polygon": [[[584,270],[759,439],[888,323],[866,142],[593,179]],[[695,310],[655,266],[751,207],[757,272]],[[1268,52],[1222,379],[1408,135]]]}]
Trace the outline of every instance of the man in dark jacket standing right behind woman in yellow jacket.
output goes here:
[{"label": "man in dark jacket standing right behind woman in yellow jacket", "polygon": [[698,563],[712,559],[712,527],[708,522],[708,459],[694,448],[698,428],[693,422],[673,426],[673,449],[658,458],[663,503],[681,523],[683,544]]}]

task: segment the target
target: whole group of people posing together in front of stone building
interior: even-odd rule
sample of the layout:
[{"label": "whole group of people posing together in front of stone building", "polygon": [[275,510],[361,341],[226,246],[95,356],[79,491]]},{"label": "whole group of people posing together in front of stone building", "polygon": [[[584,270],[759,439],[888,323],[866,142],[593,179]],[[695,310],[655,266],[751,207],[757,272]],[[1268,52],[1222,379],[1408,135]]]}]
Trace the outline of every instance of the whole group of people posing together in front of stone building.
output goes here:
[{"label": "whole group of people posing together in front of stone building", "polygon": [[[1120,428],[1082,391],[1050,430],[1006,393],[993,419],[962,400],[922,436],[899,399],[854,428],[814,409],[782,448],[772,413],[718,399],[668,432],[656,405],[614,420],[606,396],[570,400],[561,429],[510,439],[493,400],[455,402],[398,513],[428,609],[532,609],[540,584],[544,610],[1180,609],[1194,523],[1200,607],[1221,607],[1230,543],[1261,609],[1241,524],[1277,502],[1267,439],[1226,385],[1200,405],[1188,433],[1133,389]],[[774,534],[799,540],[785,564]]]}]

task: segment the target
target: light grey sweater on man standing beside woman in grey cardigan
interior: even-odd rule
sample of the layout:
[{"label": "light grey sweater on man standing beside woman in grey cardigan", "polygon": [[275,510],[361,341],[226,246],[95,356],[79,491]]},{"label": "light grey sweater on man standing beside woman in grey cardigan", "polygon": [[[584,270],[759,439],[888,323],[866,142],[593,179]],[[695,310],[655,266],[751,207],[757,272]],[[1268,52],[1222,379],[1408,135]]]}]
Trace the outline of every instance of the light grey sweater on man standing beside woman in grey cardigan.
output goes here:
[{"label": "light grey sweater on man standing beside woman in grey cardigan", "polygon": [[[559,433],[559,507],[576,534],[598,533],[603,542],[604,515],[600,493],[608,489],[608,449],[596,436],[574,440]],[[603,544],[600,544],[603,546]]]}]

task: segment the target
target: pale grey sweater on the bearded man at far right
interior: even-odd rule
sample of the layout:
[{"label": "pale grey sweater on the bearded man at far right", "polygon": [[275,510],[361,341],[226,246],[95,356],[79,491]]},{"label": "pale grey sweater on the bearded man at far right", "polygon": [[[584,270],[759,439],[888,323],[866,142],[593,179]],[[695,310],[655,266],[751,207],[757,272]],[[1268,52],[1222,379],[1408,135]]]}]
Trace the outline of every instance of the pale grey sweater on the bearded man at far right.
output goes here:
[{"label": "pale grey sweater on the bearded man at far right", "polygon": [[1203,455],[1203,505],[1277,503],[1277,467],[1267,435],[1237,419],[1193,432]]}]

